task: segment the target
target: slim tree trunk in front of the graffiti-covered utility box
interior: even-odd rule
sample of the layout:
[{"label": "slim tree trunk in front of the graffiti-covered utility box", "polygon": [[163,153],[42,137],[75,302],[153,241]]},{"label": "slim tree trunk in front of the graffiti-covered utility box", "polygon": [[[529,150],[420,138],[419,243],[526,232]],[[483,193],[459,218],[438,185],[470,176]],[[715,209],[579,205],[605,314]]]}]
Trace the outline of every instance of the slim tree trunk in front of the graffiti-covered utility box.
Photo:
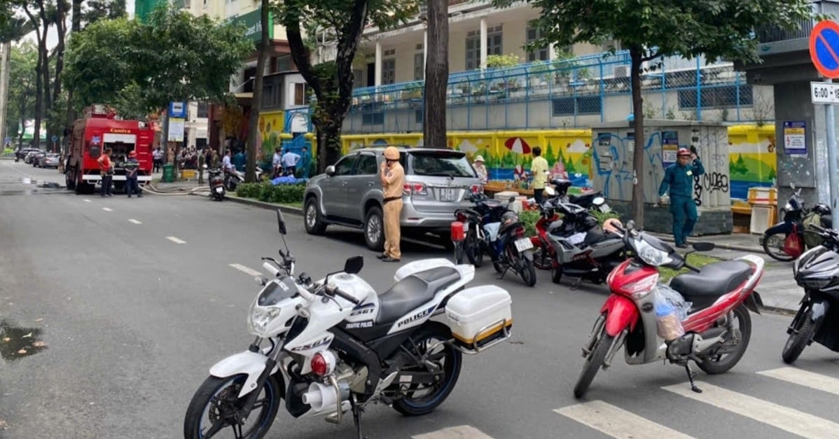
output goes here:
[{"label": "slim tree trunk in front of the graffiti-covered utility box", "polygon": [[634,121],[632,219],[638,228],[644,228],[644,97],[641,95],[641,65],[643,51],[629,48],[632,59],[632,107]]}]

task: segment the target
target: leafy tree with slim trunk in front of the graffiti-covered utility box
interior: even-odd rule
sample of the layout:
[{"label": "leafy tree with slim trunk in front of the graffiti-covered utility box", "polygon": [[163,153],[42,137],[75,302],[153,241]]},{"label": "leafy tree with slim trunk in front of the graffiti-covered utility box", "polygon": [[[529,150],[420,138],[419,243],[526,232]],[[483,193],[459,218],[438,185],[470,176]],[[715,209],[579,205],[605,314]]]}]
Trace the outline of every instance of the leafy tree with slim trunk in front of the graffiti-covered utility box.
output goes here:
[{"label": "leafy tree with slim trunk in front of the graffiti-covered utility box", "polygon": [[[555,44],[602,44],[617,40],[629,50],[633,89],[637,182],[633,190],[633,219],[644,224],[644,114],[640,73],[644,62],[660,56],[758,62],[753,30],[774,24],[796,29],[812,14],[810,0],[525,0],[540,10],[534,20],[539,38],[529,49]],[[494,0],[508,6],[513,0]]]}]

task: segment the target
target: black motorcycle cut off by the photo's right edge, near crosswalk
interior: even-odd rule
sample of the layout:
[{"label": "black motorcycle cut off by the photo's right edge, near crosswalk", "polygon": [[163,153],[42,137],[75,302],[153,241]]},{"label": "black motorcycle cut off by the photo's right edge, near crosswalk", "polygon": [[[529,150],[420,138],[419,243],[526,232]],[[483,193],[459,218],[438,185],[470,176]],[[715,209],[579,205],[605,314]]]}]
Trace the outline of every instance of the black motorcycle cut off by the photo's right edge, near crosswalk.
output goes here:
[{"label": "black motorcycle cut off by the photo's right edge, near crosswalk", "polygon": [[804,298],[787,328],[789,339],[781,358],[788,364],[814,341],[839,352],[839,233],[812,227],[821,234],[822,243],[802,254],[792,268],[795,282],[804,288]]}]

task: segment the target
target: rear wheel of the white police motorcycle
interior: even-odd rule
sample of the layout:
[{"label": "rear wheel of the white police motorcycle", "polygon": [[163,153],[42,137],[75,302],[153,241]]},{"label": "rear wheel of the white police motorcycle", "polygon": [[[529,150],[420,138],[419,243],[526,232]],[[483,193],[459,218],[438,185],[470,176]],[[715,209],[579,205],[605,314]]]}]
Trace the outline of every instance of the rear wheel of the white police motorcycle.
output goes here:
[{"label": "rear wheel of the white police motorcycle", "polygon": [[[414,333],[409,337],[410,341],[415,344],[410,347],[410,351],[415,351],[420,355],[425,355],[429,348],[434,348],[433,353],[430,354],[428,360],[440,367],[443,372],[443,378],[430,386],[428,393],[423,393],[424,390],[419,388],[419,384],[408,384],[408,388],[401,391],[409,392],[409,396],[404,396],[399,400],[393,401],[393,409],[406,416],[426,415],[435,410],[438,405],[443,404],[443,401],[451,394],[451,390],[455,388],[457,379],[461,375],[461,365],[463,363],[463,354],[457,350],[446,340],[451,339],[451,331],[447,327],[432,325],[420,329],[419,332]],[[444,343],[439,343],[444,342]],[[404,345],[403,345],[404,346]],[[442,364],[440,364],[442,360]],[[429,372],[429,368],[425,365],[408,365],[404,369],[416,369],[420,372]],[[422,394],[417,396],[416,394]]]}]

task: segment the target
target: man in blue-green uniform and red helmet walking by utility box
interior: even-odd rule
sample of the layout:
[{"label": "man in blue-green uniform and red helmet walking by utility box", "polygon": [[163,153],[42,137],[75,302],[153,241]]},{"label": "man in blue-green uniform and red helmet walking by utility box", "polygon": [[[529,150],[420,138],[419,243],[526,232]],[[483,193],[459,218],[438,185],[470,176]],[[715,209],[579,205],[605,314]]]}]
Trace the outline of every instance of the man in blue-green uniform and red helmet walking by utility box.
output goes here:
[{"label": "man in blue-green uniform and red helmet walking by utility box", "polygon": [[664,170],[664,180],[659,187],[659,202],[670,188],[670,213],[673,215],[673,238],[676,247],[687,248],[687,237],[696,224],[696,202],[693,201],[693,182],[697,175],[705,174],[701,160],[690,149],[680,148],[676,163]]}]

